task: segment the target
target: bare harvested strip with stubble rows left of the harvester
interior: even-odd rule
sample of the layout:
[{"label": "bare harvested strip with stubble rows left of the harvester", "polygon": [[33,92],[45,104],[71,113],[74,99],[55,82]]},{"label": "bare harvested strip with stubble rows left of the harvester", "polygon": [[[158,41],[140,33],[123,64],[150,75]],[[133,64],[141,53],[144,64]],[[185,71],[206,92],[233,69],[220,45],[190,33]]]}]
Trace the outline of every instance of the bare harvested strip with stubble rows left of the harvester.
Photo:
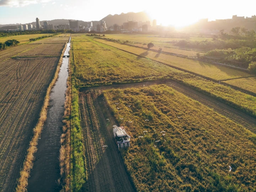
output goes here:
[{"label": "bare harvested strip with stubble rows left of the harvester", "polygon": [[103,97],[81,93],[79,100],[87,171],[84,191],[134,191],[113,141],[114,118]]}]

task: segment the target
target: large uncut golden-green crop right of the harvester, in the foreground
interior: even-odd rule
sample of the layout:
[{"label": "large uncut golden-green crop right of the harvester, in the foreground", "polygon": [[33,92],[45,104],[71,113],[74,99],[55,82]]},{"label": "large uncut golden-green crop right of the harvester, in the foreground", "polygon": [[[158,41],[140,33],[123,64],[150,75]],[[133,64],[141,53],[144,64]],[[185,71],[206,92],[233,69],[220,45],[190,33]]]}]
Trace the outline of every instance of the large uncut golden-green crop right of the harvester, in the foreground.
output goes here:
[{"label": "large uncut golden-green crop right of the harvester, in the foreground", "polygon": [[138,191],[255,190],[255,134],[165,85],[103,94],[132,137],[122,156]]}]

